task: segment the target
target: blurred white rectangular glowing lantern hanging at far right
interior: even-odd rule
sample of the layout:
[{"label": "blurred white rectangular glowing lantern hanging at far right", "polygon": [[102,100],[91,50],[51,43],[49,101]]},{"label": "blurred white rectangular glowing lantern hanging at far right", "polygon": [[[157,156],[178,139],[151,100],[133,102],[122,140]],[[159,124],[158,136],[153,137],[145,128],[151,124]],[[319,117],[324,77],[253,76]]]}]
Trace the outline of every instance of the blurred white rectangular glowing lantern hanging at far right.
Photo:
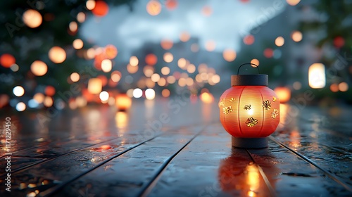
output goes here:
[{"label": "blurred white rectangular glowing lantern hanging at far right", "polygon": [[322,63],[313,63],[308,70],[309,87],[320,89],[325,87],[325,66]]}]

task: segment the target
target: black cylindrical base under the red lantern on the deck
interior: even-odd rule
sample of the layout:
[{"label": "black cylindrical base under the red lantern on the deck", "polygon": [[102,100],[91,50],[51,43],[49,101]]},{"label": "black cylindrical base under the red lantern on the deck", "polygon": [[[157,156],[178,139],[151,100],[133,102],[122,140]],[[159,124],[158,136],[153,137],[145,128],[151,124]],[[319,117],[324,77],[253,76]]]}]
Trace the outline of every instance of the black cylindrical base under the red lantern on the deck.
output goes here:
[{"label": "black cylindrical base under the red lantern on the deck", "polygon": [[232,146],[236,148],[267,148],[268,139],[259,138],[241,138],[232,136]]}]

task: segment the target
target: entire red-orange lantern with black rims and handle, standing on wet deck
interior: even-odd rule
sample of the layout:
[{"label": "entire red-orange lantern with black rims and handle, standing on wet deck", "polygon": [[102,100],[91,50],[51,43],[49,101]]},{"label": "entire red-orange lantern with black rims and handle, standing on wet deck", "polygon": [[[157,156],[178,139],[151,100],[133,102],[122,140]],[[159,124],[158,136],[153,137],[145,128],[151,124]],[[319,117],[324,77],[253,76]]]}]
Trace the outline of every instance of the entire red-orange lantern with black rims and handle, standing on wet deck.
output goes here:
[{"label": "entire red-orange lantern with black rims and handle, standing on wet deck", "polygon": [[[246,64],[255,65],[242,65]],[[238,75],[237,72],[231,76],[231,84],[220,97],[219,108],[220,122],[232,135],[232,146],[267,147],[266,137],[279,124],[279,98],[268,88],[268,75]]]}]

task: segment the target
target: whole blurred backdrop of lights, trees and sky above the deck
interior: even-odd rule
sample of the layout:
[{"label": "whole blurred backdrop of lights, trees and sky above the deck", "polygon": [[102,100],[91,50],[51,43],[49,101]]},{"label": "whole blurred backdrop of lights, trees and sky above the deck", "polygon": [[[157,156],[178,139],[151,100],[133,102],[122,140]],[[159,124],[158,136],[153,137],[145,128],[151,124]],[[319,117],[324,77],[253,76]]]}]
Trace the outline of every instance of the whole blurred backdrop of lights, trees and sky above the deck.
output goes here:
[{"label": "whole blurred backdrop of lights, trees and sky above the deck", "polygon": [[242,63],[269,75],[282,103],[307,91],[307,104],[352,102],[349,0],[0,4],[2,111],[128,110],[132,101],[182,92],[191,102],[217,103]]}]

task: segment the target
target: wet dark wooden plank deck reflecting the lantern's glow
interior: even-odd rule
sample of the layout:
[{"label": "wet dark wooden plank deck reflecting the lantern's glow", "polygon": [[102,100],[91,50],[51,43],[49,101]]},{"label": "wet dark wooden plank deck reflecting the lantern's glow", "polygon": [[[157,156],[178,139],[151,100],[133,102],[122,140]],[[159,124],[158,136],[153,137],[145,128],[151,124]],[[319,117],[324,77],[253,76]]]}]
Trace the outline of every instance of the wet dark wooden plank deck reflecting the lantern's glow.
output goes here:
[{"label": "wet dark wooden plank deck reflecting the lantern's glow", "polygon": [[352,107],[280,110],[269,147],[257,150],[231,147],[216,103],[3,111],[11,192],[2,133],[0,196],[352,196]]}]

